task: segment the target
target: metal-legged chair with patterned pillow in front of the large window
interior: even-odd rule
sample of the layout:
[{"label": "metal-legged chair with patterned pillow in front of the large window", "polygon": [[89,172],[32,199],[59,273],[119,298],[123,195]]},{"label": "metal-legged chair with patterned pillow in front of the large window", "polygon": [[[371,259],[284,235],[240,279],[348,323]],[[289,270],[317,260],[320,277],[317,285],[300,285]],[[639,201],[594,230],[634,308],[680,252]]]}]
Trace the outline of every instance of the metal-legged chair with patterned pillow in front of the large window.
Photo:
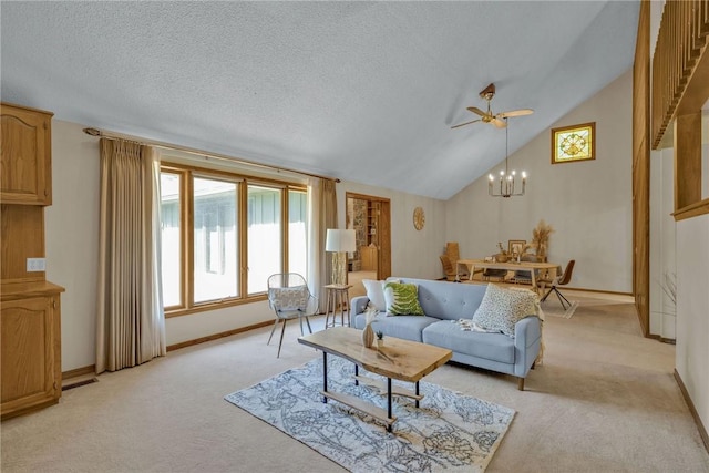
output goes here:
[{"label": "metal-legged chair with patterned pillow in front of the large window", "polygon": [[280,358],[280,347],[284,343],[284,333],[286,332],[286,323],[288,320],[298,319],[300,322],[300,335],[305,335],[302,330],[302,319],[306,319],[308,330],[312,333],[309,316],[317,311],[317,298],[310,294],[306,279],[297,273],[277,273],[268,277],[268,305],[276,312],[274,327],[270,329],[268,342],[274,337],[276,326],[280,322],[280,340],[278,341],[278,353],[276,358]]}]

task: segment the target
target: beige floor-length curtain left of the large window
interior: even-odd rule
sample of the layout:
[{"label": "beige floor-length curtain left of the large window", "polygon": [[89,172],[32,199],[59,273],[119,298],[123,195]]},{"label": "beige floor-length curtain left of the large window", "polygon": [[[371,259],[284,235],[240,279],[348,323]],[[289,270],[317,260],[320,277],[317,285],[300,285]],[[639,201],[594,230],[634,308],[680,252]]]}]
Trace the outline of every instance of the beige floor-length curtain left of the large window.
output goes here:
[{"label": "beige floor-length curtain left of the large window", "polygon": [[160,158],[102,138],[96,373],[164,356]]}]

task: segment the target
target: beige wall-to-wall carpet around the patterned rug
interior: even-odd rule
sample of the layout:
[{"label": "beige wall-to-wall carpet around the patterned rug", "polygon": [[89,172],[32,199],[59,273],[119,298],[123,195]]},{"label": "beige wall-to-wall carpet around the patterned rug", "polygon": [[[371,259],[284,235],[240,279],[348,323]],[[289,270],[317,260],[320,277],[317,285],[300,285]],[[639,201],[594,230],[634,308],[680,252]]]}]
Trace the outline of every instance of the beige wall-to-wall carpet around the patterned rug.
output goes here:
[{"label": "beige wall-to-wall carpet around the patterned rug", "polygon": [[[517,412],[487,472],[709,472],[672,377],[675,347],[643,338],[633,306],[617,299],[573,295],[571,319],[548,317],[544,363],[524,392],[510,377],[453,364],[427,377]],[[224,401],[317,357],[294,325],[276,359],[269,330],[102,374],[59,405],[2,422],[2,472],[342,471]]]}]

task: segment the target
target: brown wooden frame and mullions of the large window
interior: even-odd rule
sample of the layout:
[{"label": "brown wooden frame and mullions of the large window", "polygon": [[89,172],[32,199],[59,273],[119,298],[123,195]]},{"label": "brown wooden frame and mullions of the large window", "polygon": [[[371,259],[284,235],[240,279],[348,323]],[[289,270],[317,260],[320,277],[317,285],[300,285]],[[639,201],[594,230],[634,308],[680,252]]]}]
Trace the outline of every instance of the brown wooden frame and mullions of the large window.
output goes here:
[{"label": "brown wooden frame and mullions of the large window", "polygon": [[[289,264],[289,192],[308,193],[307,185],[270,179],[261,176],[253,176],[240,172],[228,172],[224,169],[214,169],[175,163],[164,160],[161,163],[161,173],[177,174],[181,176],[179,185],[179,254],[181,254],[181,305],[164,307],[165,318],[186,316],[189,313],[217,310],[227,307],[239,306],[243,304],[251,304],[267,299],[266,291],[248,294],[248,187],[257,185],[264,187],[273,187],[281,191],[280,193],[280,251],[281,251],[281,270],[288,273]],[[193,178],[208,178],[216,181],[226,181],[237,184],[237,249],[239,255],[238,278],[238,296],[224,298],[219,300],[209,300],[195,302],[194,300],[194,186]],[[307,243],[306,243],[306,251]]]}]

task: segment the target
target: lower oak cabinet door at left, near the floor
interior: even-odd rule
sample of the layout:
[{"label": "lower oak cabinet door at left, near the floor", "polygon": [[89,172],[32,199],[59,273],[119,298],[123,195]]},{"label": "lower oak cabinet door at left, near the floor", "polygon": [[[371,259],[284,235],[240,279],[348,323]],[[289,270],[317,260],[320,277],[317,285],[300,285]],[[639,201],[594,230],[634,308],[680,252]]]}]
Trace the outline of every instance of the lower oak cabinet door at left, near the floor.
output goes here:
[{"label": "lower oak cabinet door at left, near the floor", "polygon": [[61,395],[58,296],[2,302],[2,418],[56,403]]}]

